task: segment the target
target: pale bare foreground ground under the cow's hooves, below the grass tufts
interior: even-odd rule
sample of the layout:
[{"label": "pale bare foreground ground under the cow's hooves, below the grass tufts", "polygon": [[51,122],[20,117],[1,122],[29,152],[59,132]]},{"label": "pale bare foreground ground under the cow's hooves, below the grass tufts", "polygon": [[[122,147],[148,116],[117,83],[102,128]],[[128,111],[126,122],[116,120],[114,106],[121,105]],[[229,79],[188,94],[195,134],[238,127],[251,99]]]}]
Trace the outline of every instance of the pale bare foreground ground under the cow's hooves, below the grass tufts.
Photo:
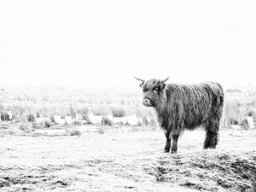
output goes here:
[{"label": "pale bare foreground ground under the cow's hooves, below the grass tufts", "polygon": [[187,131],[164,154],[162,131],[1,137],[0,191],[253,191],[256,131],[221,131],[215,150],[203,139]]}]

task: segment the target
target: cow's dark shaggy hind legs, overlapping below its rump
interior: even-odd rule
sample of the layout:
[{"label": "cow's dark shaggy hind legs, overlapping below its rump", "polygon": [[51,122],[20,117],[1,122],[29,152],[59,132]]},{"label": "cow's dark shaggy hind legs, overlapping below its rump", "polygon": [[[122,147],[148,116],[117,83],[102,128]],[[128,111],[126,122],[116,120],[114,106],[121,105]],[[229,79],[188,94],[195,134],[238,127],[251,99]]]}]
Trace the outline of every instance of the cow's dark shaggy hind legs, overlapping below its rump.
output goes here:
[{"label": "cow's dark shaggy hind legs, overlapping below its rump", "polygon": [[218,129],[219,129],[219,121],[211,120],[206,125],[206,138],[204,142],[204,149],[206,148],[216,148],[218,144]]}]

